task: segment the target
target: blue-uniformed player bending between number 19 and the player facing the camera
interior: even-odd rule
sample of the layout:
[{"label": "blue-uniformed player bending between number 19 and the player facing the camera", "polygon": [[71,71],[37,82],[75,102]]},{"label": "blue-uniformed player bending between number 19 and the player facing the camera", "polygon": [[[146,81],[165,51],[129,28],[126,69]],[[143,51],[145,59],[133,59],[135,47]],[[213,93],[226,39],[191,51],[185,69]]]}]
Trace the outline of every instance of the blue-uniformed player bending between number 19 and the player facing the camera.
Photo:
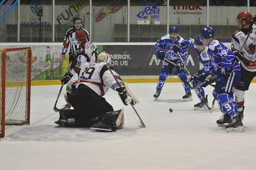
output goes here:
[{"label": "blue-uniformed player bending between number 19 and the player facing the camera", "polygon": [[[204,66],[203,69],[191,75],[191,78],[189,79],[189,81],[193,83],[193,87],[194,87],[195,85],[202,83],[212,69],[211,58],[207,53],[208,47],[205,46],[202,41],[200,41],[200,36],[196,37],[195,40],[193,38],[189,38],[188,40],[181,42],[179,46],[182,46],[182,47],[190,46],[194,48],[197,53],[197,58],[199,62],[202,63],[202,65]],[[180,48],[177,46],[174,46],[173,50],[174,52],[180,52]],[[204,88],[203,88],[203,87],[206,87],[207,85],[209,84],[204,84],[202,86],[199,86],[198,89],[200,90],[200,92],[198,91],[197,88],[195,89],[196,95],[199,98],[199,100],[201,100],[201,102],[194,105],[194,110],[208,110],[208,107],[206,106],[206,104],[208,105],[208,100],[207,100],[208,95],[205,96]]]}]

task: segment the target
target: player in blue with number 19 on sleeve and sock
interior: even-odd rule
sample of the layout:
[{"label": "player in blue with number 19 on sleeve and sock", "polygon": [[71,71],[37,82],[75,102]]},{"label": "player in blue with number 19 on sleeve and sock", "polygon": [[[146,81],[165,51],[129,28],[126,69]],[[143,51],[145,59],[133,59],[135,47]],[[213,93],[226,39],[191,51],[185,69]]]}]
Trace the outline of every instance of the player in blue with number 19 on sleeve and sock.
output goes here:
[{"label": "player in blue with number 19 on sleeve and sock", "polygon": [[[212,94],[213,97],[217,95],[216,101],[223,116],[217,120],[217,125],[223,126],[228,123],[227,126],[225,125],[227,132],[244,132],[243,123],[237,114],[237,106],[233,97],[236,85],[241,78],[240,65],[236,61],[234,53],[222,42],[213,38],[211,27],[204,27],[201,30],[200,40],[208,46],[208,54],[212,57],[212,70],[205,81],[211,79],[215,74],[218,76]],[[221,87],[222,83],[223,86]],[[219,89],[220,92],[217,94]]]}]

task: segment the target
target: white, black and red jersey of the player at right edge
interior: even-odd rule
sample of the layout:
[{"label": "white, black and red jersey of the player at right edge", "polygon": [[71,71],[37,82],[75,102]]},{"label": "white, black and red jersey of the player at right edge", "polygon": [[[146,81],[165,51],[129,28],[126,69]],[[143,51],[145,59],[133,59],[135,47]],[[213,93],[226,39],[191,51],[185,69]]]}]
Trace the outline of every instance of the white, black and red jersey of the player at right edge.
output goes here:
[{"label": "white, black and red jersey of the player at right edge", "polygon": [[[244,44],[248,33],[250,32],[251,27],[247,29],[240,29],[236,31],[232,35],[231,39],[231,50],[233,52],[240,51],[241,47]],[[252,33],[250,34],[249,38],[247,39],[242,52],[244,53],[244,59],[241,61],[241,65],[244,67],[245,70],[248,71],[256,71],[256,26],[254,26]]]}]

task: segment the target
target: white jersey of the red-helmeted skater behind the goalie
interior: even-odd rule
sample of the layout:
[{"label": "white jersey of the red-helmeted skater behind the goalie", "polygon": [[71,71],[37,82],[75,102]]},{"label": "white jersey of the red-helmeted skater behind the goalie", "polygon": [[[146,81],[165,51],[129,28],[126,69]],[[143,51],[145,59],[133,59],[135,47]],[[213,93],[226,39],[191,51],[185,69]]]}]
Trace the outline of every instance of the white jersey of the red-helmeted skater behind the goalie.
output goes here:
[{"label": "white jersey of the red-helmeted skater behind the goalie", "polygon": [[96,61],[98,55],[97,46],[91,41],[84,41],[76,51],[75,61],[71,65],[70,73],[75,75],[84,65],[84,63]]}]

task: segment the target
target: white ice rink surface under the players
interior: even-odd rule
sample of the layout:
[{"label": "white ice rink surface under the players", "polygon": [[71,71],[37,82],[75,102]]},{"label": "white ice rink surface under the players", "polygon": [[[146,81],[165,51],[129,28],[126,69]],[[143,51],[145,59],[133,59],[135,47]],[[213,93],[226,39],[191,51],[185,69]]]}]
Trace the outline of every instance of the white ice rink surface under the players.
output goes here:
[{"label": "white ice rink surface under the players", "polygon": [[[128,84],[140,100],[138,114],[124,106],[116,91],[104,96],[115,110],[124,108],[124,128],[98,132],[89,128],[61,128],[54,121],[60,85],[31,87],[30,125],[5,126],[0,139],[0,169],[255,169],[256,168],[256,84],[245,92],[244,133],[227,133],[218,127],[221,116],[217,102],[212,114],[195,111],[199,102],[184,102],[181,83],[165,83],[154,100],[156,83]],[[57,107],[65,105],[61,92]],[[205,88],[212,104],[213,87]],[[169,112],[169,108],[173,112]]]}]

